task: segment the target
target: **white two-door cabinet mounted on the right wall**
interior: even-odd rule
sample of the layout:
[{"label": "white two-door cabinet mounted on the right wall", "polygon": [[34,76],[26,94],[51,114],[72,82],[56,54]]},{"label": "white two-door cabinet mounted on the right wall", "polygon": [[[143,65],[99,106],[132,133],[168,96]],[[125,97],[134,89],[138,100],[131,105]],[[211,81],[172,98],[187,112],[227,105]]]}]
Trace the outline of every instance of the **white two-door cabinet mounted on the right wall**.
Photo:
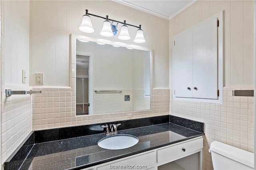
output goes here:
[{"label": "white two-door cabinet mounted on the right wall", "polygon": [[222,103],[222,12],[174,36],[173,99]]}]

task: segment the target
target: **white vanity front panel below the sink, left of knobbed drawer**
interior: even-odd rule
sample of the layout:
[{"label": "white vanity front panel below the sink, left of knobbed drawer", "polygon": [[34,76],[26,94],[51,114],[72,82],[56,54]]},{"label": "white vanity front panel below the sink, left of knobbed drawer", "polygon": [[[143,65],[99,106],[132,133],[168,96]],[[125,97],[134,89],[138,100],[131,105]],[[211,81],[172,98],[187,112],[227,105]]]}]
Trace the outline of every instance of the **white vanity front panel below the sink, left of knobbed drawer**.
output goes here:
[{"label": "white vanity front panel below the sink, left of knobbed drawer", "polygon": [[[145,170],[147,168],[152,167],[152,165],[156,164],[156,151],[146,152],[139,154],[138,156],[129,156],[127,158],[123,158],[122,160],[108,162],[104,166],[99,166],[97,170],[112,170],[112,169],[126,169],[121,168],[120,166],[146,166],[144,168],[127,168],[127,169],[140,169]],[[112,168],[110,168],[110,165]],[[113,167],[114,166],[114,167]],[[118,168],[119,166],[119,168]]]}]

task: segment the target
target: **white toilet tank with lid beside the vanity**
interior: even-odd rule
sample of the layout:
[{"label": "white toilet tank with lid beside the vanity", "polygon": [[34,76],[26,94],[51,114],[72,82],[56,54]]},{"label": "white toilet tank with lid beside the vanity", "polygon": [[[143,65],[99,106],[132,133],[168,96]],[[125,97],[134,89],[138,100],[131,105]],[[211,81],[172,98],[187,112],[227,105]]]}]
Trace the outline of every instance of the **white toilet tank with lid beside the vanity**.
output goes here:
[{"label": "white toilet tank with lid beside the vanity", "polygon": [[214,141],[209,152],[212,154],[214,170],[253,170],[254,154],[230,145]]}]

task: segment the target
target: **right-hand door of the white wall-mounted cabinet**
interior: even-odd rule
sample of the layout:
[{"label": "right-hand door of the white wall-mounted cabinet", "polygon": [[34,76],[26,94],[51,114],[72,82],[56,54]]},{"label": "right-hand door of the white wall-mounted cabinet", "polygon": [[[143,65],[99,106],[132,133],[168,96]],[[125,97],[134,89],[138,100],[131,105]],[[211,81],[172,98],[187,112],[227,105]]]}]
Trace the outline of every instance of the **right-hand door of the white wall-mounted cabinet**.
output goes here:
[{"label": "right-hand door of the white wall-mounted cabinet", "polygon": [[193,29],[193,98],[218,99],[217,50],[217,18],[210,18]]}]

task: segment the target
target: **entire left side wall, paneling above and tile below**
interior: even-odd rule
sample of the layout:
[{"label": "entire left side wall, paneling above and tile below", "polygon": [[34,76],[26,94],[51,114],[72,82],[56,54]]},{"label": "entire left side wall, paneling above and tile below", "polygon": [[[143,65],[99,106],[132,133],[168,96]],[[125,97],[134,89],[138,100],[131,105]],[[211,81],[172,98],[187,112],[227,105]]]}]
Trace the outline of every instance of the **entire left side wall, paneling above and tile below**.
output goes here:
[{"label": "entire left side wall, paneling above and tile below", "polygon": [[[13,95],[5,97],[5,89],[30,90],[30,1],[1,1],[2,3],[2,53],[1,53],[1,162],[32,131],[32,97]],[[26,83],[22,84],[22,69]]]}]

